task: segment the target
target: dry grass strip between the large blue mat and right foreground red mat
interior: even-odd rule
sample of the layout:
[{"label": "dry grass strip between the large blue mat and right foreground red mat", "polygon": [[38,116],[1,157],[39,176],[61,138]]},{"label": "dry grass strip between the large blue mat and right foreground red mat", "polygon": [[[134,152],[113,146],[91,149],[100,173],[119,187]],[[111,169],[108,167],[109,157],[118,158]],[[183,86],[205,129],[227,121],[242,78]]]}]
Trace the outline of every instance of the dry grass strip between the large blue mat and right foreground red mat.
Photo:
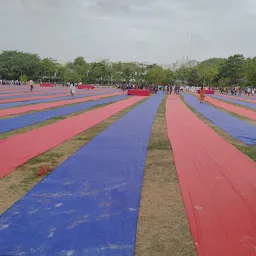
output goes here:
[{"label": "dry grass strip between the large blue mat and right foreground red mat", "polygon": [[136,241],[136,256],[196,255],[167,136],[165,100],[147,153]]}]

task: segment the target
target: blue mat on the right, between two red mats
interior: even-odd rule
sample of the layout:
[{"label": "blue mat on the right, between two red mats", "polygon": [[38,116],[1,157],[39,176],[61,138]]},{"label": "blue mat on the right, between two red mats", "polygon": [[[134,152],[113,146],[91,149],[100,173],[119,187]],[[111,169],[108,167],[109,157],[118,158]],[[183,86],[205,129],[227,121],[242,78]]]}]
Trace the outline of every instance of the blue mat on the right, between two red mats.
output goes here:
[{"label": "blue mat on the right, between two red mats", "polygon": [[191,107],[230,136],[247,145],[256,145],[256,126],[250,125],[207,104],[200,104],[199,100],[190,94],[183,93],[182,95]]}]

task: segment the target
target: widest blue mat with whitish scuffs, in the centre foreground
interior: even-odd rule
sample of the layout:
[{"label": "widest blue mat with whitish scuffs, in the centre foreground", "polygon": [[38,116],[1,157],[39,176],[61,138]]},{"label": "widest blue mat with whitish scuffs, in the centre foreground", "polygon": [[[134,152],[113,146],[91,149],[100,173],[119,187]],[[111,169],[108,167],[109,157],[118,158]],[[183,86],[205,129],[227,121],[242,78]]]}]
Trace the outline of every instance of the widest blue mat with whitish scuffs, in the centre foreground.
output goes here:
[{"label": "widest blue mat with whitish scuffs, in the centre foreground", "polygon": [[3,255],[134,255],[146,153],[163,96],[78,150],[0,217]]}]

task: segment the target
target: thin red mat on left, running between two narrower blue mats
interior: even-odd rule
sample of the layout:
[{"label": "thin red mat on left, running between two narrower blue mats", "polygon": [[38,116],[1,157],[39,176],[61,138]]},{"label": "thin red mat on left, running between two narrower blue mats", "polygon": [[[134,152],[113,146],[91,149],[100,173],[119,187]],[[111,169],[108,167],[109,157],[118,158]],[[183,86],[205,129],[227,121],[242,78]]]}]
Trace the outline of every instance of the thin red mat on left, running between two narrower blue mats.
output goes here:
[{"label": "thin red mat on left, running between two narrower blue mats", "polygon": [[17,108],[3,109],[3,110],[0,110],[0,117],[18,115],[18,114],[26,113],[29,111],[39,111],[39,110],[44,110],[48,108],[61,107],[69,104],[86,102],[90,100],[97,100],[97,99],[116,96],[120,94],[123,94],[123,93],[116,92],[111,94],[100,94],[100,95],[95,95],[91,97],[79,98],[79,99],[61,100],[61,101],[50,102],[50,103],[40,103],[40,104],[27,105],[27,106],[17,107]]}]

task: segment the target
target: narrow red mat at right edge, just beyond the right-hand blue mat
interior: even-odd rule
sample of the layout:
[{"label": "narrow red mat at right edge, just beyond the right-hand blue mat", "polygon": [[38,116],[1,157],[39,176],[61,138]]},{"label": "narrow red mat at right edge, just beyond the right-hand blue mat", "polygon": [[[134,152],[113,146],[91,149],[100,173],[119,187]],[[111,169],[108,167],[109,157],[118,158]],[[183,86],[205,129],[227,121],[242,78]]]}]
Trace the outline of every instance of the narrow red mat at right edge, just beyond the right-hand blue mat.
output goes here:
[{"label": "narrow red mat at right edge, just beyond the right-hand blue mat", "polygon": [[211,104],[213,104],[213,105],[215,105],[217,107],[226,109],[226,110],[228,110],[230,112],[236,113],[236,114],[238,114],[240,116],[248,117],[248,118],[256,121],[256,111],[249,110],[249,109],[242,108],[242,107],[237,107],[235,105],[228,104],[228,103],[226,103],[224,101],[216,100],[216,99],[214,99],[212,97],[207,97],[206,101],[210,102]]}]

